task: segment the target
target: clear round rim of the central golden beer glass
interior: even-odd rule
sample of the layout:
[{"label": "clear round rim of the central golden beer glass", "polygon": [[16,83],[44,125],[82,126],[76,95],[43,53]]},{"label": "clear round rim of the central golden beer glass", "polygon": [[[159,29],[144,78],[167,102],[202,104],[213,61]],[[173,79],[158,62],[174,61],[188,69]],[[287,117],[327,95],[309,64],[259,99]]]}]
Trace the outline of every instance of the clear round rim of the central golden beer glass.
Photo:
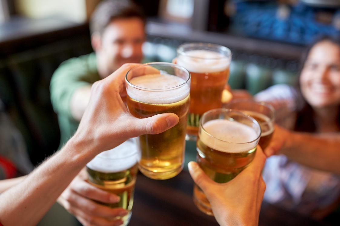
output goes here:
[{"label": "clear round rim of the central golden beer glass", "polygon": [[[182,84],[180,85],[177,85],[177,86],[174,86],[174,87],[171,87],[171,88],[166,88],[166,89],[150,89],[150,88],[143,88],[143,87],[139,87],[139,86],[136,86],[134,84],[132,84],[129,80],[128,80],[128,74],[130,71],[132,71],[133,69],[136,69],[138,67],[145,67],[145,66],[152,66],[152,65],[164,65],[164,66],[174,66],[176,68],[179,68],[181,70],[184,70],[185,72],[188,73],[188,79],[183,82]],[[175,76],[175,75],[173,75]],[[151,91],[151,92],[161,92],[161,91],[168,91],[168,90],[173,90],[173,89],[177,89],[177,88],[180,88],[188,83],[190,83],[190,79],[191,79],[191,74],[190,72],[185,68],[185,67],[182,67],[178,64],[174,64],[174,63],[168,63],[168,62],[150,62],[150,63],[144,63],[144,64],[140,64],[140,65],[137,65],[137,66],[134,66],[133,68],[131,68],[130,70],[128,70],[128,72],[126,72],[126,75],[125,75],[125,82],[133,87],[133,88],[136,88],[136,89],[139,89],[139,90],[143,90],[143,91]]]}]

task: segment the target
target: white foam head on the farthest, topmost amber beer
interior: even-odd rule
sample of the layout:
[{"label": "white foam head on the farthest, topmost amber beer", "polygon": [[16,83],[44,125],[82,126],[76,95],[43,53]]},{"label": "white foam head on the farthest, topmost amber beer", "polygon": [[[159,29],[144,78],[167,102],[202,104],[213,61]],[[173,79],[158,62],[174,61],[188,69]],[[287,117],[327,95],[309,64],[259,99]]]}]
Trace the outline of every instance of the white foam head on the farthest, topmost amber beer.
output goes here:
[{"label": "white foam head on the farthest, topmost amber beer", "polygon": [[194,73],[216,73],[226,70],[230,64],[230,57],[211,50],[188,50],[185,54],[177,57],[177,64]]}]

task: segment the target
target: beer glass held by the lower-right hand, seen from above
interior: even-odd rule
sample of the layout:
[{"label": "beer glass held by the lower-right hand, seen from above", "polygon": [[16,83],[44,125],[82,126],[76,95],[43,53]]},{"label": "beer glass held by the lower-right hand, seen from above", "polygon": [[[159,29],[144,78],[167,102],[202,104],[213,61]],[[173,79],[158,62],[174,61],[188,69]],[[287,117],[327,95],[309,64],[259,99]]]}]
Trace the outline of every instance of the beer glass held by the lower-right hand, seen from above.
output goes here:
[{"label": "beer glass held by the lower-right hand, seen from above", "polygon": [[[231,109],[209,110],[200,120],[196,161],[212,180],[228,182],[253,161],[260,135],[260,125],[249,115]],[[202,212],[213,215],[196,184],[193,201]]]}]

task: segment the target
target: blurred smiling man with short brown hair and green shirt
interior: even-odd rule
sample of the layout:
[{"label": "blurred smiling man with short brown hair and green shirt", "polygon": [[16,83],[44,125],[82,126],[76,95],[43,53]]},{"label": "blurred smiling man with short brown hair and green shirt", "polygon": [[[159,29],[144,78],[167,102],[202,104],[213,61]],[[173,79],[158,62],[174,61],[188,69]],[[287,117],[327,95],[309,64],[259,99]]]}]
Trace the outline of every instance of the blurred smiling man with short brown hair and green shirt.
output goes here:
[{"label": "blurred smiling man with short brown hair and green shirt", "polygon": [[145,17],[133,3],[101,2],[90,19],[90,30],[94,53],[63,62],[51,79],[51,101],[61,130],[59,148],[77,130],[92,84],[143,57]]}]

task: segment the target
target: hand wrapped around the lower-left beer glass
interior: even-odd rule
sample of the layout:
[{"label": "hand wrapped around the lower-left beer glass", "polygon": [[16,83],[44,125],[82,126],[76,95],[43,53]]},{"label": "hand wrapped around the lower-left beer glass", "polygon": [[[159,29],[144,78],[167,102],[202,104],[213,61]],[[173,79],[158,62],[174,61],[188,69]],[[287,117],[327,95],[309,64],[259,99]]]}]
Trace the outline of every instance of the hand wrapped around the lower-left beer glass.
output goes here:
[{"label": "hand wrapped around the lower-left beer glass", "polygon": [[89,184],[86,169],[83,168],[60,195],[57,202],[73,214],[84,226],[123,224],[122,220],[110,219],[126,215],[128,212],[125,209],[100,205],[90,199],[104,203],[117,203],[120,198]]}]

